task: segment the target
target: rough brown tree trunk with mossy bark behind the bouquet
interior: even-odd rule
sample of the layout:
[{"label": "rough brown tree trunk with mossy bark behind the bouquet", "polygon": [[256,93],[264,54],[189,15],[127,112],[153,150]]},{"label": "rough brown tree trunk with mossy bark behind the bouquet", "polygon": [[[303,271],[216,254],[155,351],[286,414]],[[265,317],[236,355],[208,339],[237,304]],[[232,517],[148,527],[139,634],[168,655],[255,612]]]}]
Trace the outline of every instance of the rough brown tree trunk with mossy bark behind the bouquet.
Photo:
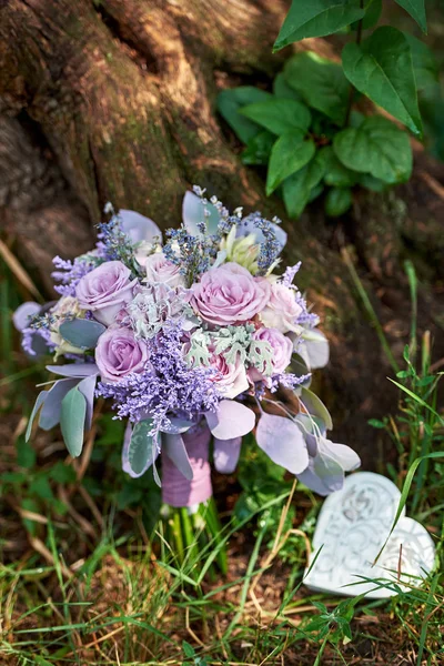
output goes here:
[{"label": "rough brown tree trunk with mossy bark behind the bouquet", "polygon": [[[417,151],[407,185],[385,198],[357,193],[353,214],[334,224],[316,206],[289,222],[280,202],[265,199],[263,180],[240,162],[214,99],[222,87],[269,84],[281,69],[289,52],[273,56],[272,42],[287,4],[0,0],[1,229],[49,289],[52,256],[91,246],[107,201],[165,228],[178,224],[183,193],[198,183],[230,206],[280,215],[289,232],[285,260],[302,259],[301,286],[332,342],[322,390],[336,438],[374,465],[375,435],[365,422],[393,411],[395,394],[339,250],[355,246],[400,347],[408,316],[400,260],[415,256],[432,285],[420,324],[433,325],[443,276],[444,170]],[[323,40],[299,48],[331,51]]]}]

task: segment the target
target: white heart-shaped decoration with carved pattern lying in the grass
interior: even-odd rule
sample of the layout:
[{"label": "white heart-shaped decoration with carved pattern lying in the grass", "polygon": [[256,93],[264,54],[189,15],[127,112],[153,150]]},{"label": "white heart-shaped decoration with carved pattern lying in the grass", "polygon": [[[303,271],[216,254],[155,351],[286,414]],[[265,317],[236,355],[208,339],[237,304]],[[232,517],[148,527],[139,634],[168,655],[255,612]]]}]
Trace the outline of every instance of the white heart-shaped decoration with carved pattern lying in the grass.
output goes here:
[{"label": "white heart-shaped decoration with carved pattern lying in the grass", "polygon": [[[425,578],[434,566],[435,546],[425,527],[407,518],[405,511],[373,566],[400,498],[400,491],[385,476],[372,472],[349,476],[321,509],[304,584],[319,592],[346,596],[365,593],[367,597],[384,598],[396,594],[390,582],[407,589],[408,582],[417,585],[417,578]],[[362,578],[383,578],[387,586],[379,587]]]}]

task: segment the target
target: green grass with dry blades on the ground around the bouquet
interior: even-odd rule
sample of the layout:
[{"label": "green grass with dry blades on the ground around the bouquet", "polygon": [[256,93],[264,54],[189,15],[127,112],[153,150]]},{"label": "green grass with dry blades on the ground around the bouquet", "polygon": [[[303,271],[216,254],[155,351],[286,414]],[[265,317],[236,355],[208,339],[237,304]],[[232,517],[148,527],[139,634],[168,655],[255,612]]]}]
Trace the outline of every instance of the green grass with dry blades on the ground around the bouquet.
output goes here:
[{"label": "green grass with dry blades on the ground around the bouquet", "polygon": [[[258,447],[246,443],[238,481],[216,493],[223,527],[219,533],[213,528],[218,534],[212,538],[200,518],[186,512],[160,517],[159,491],[148,476],[125,477],[120,465],[122,426],[101,413],[101,406],[85,468],[68,462],[58,433],[38,433],[26,444],[22,414],[29,414],[33,384],[44,375],[18,350],[10,314],[26,294],[3,266],[0,662],[401,665],[408,655],[407,663],[416,666],[442,664],[441,375],[433,367],[430,336],[417,340],[411,265],[407,275],[412,323],[401,370],[389,354],[400,402],[372,425],[397,452],[397,464],[389,473],[403,488],[407,514],[430,529],[437,566],[424,585],[400,589],[389,601],[369,601],[304,588],[307,544],[321,502],[294,487]],[[356,274],[353,280],[362,295]],[[385,341],[369,297],[363,306]],[[386,341],[383,349],[390,349]],[[215,519],[213,514],[209,518]],[[178,538],[190,531],[195,543],[178,547]]]}]

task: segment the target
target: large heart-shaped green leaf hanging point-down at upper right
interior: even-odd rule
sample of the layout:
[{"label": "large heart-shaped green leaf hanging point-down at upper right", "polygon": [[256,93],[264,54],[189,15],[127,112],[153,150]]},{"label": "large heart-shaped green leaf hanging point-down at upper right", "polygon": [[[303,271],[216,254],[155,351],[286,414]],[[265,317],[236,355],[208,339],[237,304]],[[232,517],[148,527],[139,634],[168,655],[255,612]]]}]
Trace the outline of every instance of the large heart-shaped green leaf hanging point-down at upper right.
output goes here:
[{"label": "large heart-shaped green leaf hanging point-down at upper right", "polygon": [[383,26],[362,44],[342,51],[349,81],[415,134],[422,133],[412,53],[404,34]]}]

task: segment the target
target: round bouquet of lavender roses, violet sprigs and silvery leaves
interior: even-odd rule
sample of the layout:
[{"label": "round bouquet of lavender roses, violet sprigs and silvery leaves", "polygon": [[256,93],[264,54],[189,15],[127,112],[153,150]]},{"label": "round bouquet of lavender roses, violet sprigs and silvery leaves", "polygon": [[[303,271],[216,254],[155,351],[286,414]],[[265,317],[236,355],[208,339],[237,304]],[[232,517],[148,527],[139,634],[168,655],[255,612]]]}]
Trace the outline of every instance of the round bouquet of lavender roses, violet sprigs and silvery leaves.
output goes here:
[{"label": "round bouquet of lavender roses, violet sprigs and silvery leaves", "polygon": [[293,284],[300,263],[281,269],[280,221],[230,214],[200,188],[164,238],[137,212],[105,212],[94,250],[54,259],[60,300],[14,313],[29,354],[67,361],[47,366],[59,379],[39,394],[27,436],[40,411],[40,427],[60,424],[79,456],[94,398],[104,397],[128,422],[124,472],[151,470],[170,506],[209,500],[211,442],[215,468],[231,473],[252,431],[313,491],[341,488],[360,460],[327,438],[330,414],[310,390],[329,345]]}]

